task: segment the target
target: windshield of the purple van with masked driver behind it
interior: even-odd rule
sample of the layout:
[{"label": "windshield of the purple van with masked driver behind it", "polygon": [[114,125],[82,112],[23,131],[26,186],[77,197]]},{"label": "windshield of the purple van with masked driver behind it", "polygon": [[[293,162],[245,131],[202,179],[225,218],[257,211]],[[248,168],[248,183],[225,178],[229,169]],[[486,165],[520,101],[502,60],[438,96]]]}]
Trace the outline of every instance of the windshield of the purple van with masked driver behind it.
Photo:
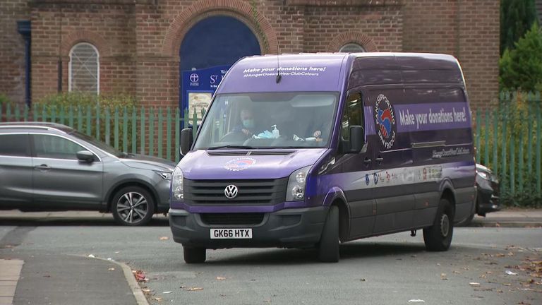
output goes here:
[{"label": "windshield of the purple van with masked driver behind it", "polygon": [[338,97],[338,92],[217,95],[195,149],[325,147]]}]

